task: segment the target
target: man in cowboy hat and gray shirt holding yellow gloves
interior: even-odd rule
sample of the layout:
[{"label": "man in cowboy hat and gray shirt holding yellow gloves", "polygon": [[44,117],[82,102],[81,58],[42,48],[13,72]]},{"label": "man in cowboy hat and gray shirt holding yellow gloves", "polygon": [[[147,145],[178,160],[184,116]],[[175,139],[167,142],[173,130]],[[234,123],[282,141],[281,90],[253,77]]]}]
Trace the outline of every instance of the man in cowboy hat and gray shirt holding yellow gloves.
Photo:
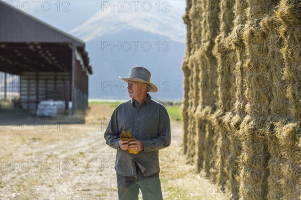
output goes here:
[{"label": "man in cowboy hat and gray shirt holding yellow gloves", "polygon": [[[117,149],[115,170],[119,199],[163,199],[159,178],[159,150],[171,143],[170,118],[165,106],[148,92],[158,88],[150,82],[150,72],[141,66],[131,68],[127,81],[130,100],[119,104],[108,123],[106,144]],[[119,140],[130,131],[134,141]],[[138,151],[129,153],[128,149]]]}]

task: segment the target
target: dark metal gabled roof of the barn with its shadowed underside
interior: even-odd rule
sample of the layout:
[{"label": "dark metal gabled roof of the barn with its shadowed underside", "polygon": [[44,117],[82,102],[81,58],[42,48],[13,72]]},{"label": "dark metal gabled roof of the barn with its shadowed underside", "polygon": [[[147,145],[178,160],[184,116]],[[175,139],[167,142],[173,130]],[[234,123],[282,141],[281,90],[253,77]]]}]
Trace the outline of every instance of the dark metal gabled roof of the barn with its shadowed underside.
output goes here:
[{"label": "dark metal gabled roof of the barn with its shadowed underside", "polygon": [[84,41],[4,1],[0,0],[0,6],[2,71],[15,74],[33,69],[69,71],[73,46],[81,53],[85,67],[92,74]]}]

